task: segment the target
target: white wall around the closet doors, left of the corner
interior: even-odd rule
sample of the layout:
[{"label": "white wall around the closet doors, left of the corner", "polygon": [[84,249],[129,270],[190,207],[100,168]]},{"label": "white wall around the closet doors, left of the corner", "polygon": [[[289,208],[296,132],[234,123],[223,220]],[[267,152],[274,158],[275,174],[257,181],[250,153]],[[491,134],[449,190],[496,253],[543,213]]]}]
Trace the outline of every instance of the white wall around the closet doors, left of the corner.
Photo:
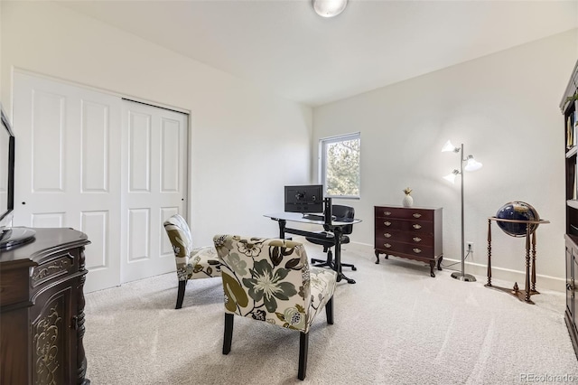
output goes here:
[{"label": "white wall around the closet doors, left of the corner", "polygon": [[60,5],[0,6],[0,96],[10,116],[14,70],[189,110],[195,243],[222,232],[278,233],[263,214],[283,211],[285,183],[310,180],[311,108]]}]

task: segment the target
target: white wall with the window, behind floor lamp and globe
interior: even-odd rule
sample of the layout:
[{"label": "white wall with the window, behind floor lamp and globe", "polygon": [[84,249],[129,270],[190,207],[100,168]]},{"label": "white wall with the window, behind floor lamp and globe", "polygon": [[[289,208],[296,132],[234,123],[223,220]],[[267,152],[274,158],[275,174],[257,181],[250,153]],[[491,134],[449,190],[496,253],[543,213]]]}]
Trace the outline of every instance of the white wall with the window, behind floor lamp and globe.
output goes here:
[{"label": "white wall with the window, behind floor lamp and globe", "polygon": [[[464,179],[465,240],[474,242],[468,260],[481,265],[466,271],[485,281],[488,217],[506,202],[523,201],[552,222],[537,230],[537,286],[564,290],[564,118],[558,105],[577,59],[573,30],[314,108],[314,151],[321,137],[361,132],[361,199],[352,203],[364,221],[353,240],[373,246],[373,206],[401,205],[409,186],[415,205],[443,207],[444,258],[460,259],[460,180],[452,185],[441,178],[460,165],[459,155],[440,152],[451,139],[484,164]],[[507,270],[525,271],[524,239],[507,236],[495,223],[492,228],[493,277],[522,277],[523,288],[523,276]]]}]

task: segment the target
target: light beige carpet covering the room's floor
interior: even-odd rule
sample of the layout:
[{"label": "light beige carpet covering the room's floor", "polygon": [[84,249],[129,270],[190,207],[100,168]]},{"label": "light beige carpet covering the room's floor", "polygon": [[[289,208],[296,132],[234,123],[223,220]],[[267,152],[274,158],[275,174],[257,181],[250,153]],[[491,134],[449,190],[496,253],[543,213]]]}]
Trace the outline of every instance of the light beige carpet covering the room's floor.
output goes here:
[{"label": "light beige carpet covering the room's floor", "polygon": [[564,293],[541,291],[528,305],[484,287],[485,277],[461,282],[443,270],[433,278],[424,264],[380,259],[343,250],[342,260],[358,268],[344,272],[357,283],[338,284],[335,324],[324,313],[315,320],[304,381],[298,333],[236,317],[223,355],[220,279],[190,281],[175,310],[174,273],[86,295],[87,378],[93,385],[578,381]]}]

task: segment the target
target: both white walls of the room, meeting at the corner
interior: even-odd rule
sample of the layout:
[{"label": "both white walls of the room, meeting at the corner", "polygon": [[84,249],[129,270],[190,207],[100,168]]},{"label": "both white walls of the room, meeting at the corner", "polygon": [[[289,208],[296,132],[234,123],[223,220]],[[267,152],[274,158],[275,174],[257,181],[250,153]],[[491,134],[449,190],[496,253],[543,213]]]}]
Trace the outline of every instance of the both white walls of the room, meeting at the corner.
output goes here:
[{"label": "both white walls of the room, meeting at the corner", "polygon": [[[353,205],[364,221],[353,240],[370,249],[373,206],[400,204],[410,186],[416,205],[443,207],[445,258],[458,259],[459,184],[440,179],[459,164],[457,155],[439,152],[451,138],[484,164],[466,174],[466,240],[475,244],[471,262],[480,265],[468,271],[485,276],[487,218],[503,203],[521,200],[552,221],[537,232],[538,286],[554,277],[552,286],[564,289],[558,104],[578,58],[576,30],[312,113],[59,5],[3,1],[0,10],[0,98],[9,115],[14,70],[191,111],[191,228],[199,244],[216,232],[276,234],[275,222],[262,214],[282,209],[284,184],[309,182],[317,140],[360,131],[362,191]],[[494,226],[492,249],[494,277],[518,279],[523,240]]]}]

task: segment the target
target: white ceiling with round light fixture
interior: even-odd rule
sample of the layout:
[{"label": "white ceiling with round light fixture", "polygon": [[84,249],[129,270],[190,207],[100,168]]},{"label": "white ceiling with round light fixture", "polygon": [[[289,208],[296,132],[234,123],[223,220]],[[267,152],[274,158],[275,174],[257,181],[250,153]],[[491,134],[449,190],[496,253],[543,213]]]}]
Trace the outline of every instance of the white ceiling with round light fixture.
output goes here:
[{"label": "white ceiling with round light fixture", "polygon": [[578,1],[64,1],[287,99],[322,105],[578,27]]}]

